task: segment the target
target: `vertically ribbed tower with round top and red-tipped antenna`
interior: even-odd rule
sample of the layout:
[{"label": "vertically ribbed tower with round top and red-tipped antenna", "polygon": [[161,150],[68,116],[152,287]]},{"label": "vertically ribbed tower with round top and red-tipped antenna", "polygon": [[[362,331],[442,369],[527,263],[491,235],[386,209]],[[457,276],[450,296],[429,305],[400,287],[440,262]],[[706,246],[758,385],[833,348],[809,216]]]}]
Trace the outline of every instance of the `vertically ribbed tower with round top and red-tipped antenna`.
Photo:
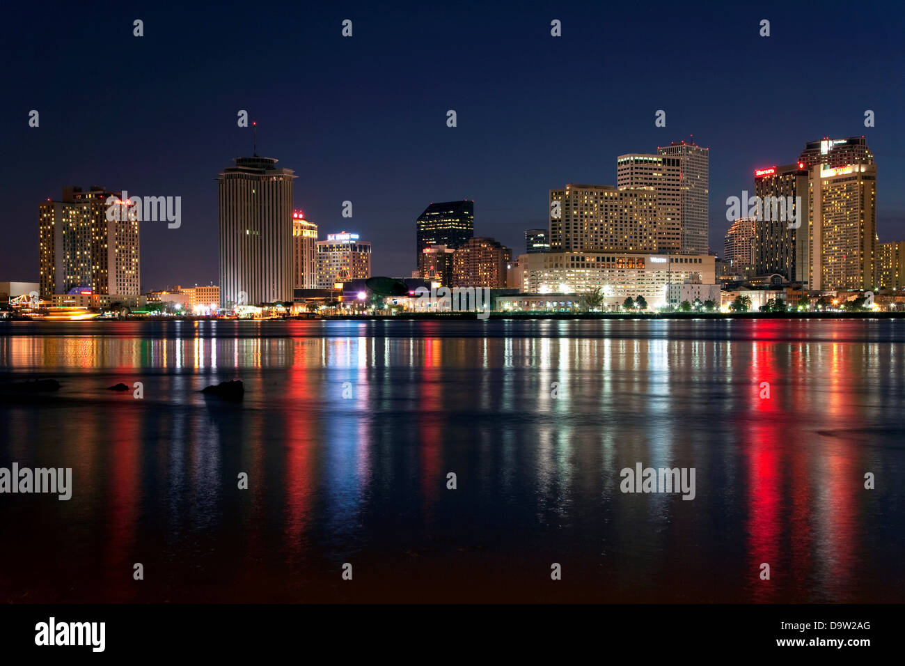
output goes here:
[{"label": "vertically ribbed tower with round top and red-tipped antenna", "polygon": [[291,302],[292,169],[235,158],[220,182],[220,305]]}]

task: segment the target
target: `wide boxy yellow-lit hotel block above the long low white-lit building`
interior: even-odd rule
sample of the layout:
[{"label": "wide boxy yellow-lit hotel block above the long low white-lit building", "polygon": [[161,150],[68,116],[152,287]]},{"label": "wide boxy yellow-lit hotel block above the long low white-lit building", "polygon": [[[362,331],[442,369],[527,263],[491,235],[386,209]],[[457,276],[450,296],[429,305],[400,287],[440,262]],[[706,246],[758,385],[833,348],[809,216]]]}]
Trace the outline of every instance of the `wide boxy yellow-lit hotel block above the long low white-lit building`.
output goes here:
[{"label": "wide boxy yellow-lit hotel block above the long low white-lit building", "polygon": [[551,252],[657,252],[653,189],[570,183],[549,201]]}]

